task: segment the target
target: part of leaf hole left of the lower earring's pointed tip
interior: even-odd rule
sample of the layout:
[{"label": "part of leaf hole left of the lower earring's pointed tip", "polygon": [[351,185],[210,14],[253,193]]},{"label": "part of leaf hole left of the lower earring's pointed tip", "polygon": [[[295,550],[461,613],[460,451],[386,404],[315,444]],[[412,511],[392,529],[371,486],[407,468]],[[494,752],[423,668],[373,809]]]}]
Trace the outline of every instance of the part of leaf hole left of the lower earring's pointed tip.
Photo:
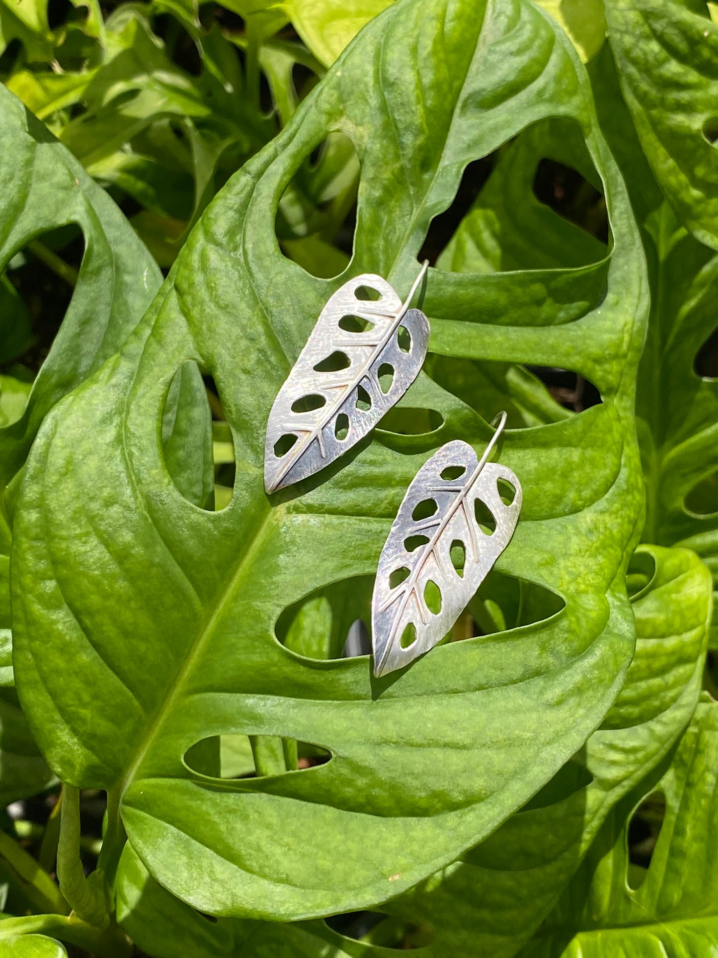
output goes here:
[{"label": "part of leaf hole left of the lower earring's pointed tip", "polygon": [[282,610],[277,640],[306,658],[341,658],[353,624],[371,622],[373,585],[373,576],[354,576],[315,589]]}]

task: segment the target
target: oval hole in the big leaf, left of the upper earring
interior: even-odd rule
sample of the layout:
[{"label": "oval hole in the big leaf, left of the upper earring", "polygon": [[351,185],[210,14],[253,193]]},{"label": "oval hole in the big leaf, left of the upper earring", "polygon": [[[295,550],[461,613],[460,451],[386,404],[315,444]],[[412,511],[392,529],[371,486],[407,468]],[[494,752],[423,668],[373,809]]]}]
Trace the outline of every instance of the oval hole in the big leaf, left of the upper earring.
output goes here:
[{"label": "oval hole in the big leaf, left of the upper earring", "polygon": [[[215,410],[207,382],[194,361],[172,376],[162,414],[162,453],[175,488],[194,506],[213,511],[232,499],[235,486],[235,444],[219,398]],[[218,489],[221,487],[221,489]],[[218,494],[217,494],[218,492]]]}]

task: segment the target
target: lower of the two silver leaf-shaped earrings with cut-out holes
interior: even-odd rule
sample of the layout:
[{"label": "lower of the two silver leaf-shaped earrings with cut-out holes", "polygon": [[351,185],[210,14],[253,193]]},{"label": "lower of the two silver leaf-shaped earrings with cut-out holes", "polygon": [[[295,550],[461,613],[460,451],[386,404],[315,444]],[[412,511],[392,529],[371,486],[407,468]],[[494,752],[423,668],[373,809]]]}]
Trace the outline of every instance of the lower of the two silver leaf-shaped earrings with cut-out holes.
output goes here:
[{"label": "lower of the two silver leaf-shaped earrings with cut-out holes", "polygon": [[[498,422],[498,425],[496,424]],[[454,625],[513,536],[521,484],[489,463],[506,414],[478,459],[461,440],[416,473],[379,558],[371,599],[374,674],[401,669]]]}]

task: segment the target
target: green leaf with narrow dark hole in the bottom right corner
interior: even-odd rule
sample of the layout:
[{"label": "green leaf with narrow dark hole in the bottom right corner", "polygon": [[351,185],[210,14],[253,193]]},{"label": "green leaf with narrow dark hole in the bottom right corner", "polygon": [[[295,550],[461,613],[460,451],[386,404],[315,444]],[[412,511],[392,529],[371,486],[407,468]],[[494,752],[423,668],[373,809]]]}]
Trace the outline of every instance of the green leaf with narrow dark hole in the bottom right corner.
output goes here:
[{"label": "green leaf with narrow dark hole in the bottom right corner", "polygon": [[[522,958],[687,958],[718,947],[716,815],[718,705],[702,701],[670,767],[607,820],[559,907]],[[628,823],[662,792],[665,817],[639,888],[629,885]],[[635,882],[633,882],[635,884]]]}]

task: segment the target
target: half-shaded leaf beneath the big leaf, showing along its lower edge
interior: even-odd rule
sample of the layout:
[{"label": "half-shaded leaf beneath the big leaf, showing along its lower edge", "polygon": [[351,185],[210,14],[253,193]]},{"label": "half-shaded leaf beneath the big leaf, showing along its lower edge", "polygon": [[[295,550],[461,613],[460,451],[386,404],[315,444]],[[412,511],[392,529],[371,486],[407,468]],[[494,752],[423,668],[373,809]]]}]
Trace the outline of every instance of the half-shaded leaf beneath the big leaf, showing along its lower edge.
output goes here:
[{"label": "half-shaded leaf beneath the big leaf, showing along its lower edge", "polygon": [[[383,909],[409,926],[433,927],[433,945],[422,953],[515,954],[560,895],[608,812],[660,764],[690,720],[706,657],[710,578],[686,549],[640,546],[635,566],[636,656],[601,728],[485,849]],[[326,942],[338,955],[356,947],[320,922],[285,925],[283,935],[274,923],[211,924],[150,878],[129,845],[119,870],[118,918],[157,958],[184,958],[190,949],[195,958],[224,958],[247,941],[261,955],[263,949],[281,955],[284,948],[319,956]],[[377,958],[383,953],[370,947],[364,952]]]}]

